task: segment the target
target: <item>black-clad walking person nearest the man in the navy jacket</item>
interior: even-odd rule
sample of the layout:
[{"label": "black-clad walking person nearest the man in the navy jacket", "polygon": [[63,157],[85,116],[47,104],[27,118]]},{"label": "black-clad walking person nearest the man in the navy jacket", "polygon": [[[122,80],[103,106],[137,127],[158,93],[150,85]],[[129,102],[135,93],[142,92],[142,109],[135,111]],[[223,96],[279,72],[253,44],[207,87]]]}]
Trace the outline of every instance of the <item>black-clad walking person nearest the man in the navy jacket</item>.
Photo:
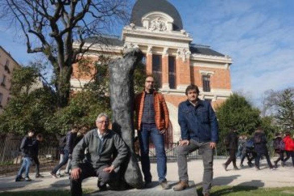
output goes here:
[{"label": "black-clad walking person nearest the man in the navy jacket", "polygon": [[229,152],[229,159],[227,160],[226,163],[223,164],[224,169],[227,171],[228,166],[230,163],[233,163],[234,170],[238,170],[238,167],[236,165],[236,152],[238,149],[238,135],[237,135],[237,130],[232,129],[229,134],[227,135],[227,151]]}]

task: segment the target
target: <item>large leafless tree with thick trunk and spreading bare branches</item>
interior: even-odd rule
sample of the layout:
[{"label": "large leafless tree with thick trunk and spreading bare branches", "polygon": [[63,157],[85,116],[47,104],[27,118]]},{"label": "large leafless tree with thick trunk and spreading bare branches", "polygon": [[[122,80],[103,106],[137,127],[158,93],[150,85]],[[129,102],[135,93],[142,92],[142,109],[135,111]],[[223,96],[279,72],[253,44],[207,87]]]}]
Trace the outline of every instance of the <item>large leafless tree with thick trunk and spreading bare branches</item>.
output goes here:
[{"label": "large leafless tree with thick trunk and spreading bare branches", "polygon": [[[103,34],[129,18],[128,0],[2,0],[0,17],[21,30],[27,52],[42,52],[53,66],[59,107],[68,102],[72,64],[86,52],[88,37]],[[76,49],[73,42],[78,43]],[[95,44],[95,43],[92,43]]]}]

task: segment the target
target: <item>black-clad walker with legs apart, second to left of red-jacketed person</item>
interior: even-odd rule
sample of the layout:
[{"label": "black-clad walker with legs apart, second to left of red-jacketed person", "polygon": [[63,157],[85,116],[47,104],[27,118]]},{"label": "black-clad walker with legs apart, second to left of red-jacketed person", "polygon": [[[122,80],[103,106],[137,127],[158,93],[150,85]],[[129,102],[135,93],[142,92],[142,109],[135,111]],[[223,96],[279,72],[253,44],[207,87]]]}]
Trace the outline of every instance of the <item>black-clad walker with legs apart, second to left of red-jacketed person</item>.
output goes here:
[{"label": "black-clad walker with legs apart, second to left of red-jacketed person", "polygon": [[273,164],[271,163],[269,151],[267,148],[266,134],[264,133],[261,127],[258,127],[254,133],[254,149],[257,153],[256,163],[255,163],[256,170],[260,170],[259,162],[262,155],[266,157],[270,169],[274,169]]}]

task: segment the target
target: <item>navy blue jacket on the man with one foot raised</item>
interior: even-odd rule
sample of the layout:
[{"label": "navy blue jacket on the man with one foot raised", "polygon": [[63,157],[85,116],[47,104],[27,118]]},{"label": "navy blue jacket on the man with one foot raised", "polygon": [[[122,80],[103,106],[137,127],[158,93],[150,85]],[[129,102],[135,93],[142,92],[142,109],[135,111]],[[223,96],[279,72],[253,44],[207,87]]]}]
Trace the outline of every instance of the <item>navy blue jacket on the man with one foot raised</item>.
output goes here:
[{"label": "navy blue jacket on the man with one foot raised", "polygon": [[208,101],[198,99],[195,107],[188,100],[181,102],[178,107],[178,123],[182,140],[219,141],[218,122]]}]

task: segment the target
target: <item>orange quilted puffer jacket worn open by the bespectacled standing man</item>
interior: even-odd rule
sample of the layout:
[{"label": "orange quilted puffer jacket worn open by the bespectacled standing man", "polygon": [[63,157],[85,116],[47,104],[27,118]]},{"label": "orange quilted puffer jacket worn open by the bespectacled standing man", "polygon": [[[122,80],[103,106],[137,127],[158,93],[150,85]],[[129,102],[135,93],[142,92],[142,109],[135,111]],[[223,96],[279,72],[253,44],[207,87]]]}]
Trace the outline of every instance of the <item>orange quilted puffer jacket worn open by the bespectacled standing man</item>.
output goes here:
[{"label": "orange quilted puffer jacket worn open by the bespectacled standing man", "polygon": [[[155,125],[158,130],[167,129],[169,125],[168,109],[161,93],[153,91]],[[137,95],[135,99],[136,108],[136,128],[141,130],[145,91]]]}]

